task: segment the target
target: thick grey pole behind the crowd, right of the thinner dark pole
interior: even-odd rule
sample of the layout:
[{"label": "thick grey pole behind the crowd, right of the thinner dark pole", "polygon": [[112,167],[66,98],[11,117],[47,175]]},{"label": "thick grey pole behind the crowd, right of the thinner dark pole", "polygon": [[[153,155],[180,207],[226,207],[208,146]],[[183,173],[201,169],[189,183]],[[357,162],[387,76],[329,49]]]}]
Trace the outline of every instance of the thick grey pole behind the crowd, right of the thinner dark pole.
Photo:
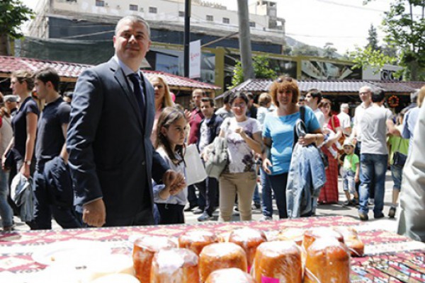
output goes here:
[{"label": "thick grey pole behind the crowd, right of the thinner dark pole", "polygon": [[242,70],[244,81],[254,79],[254,67],[252,67],[251,34],[249,33],[248,1],[237,0],[239,16],[239,49],[241,50]]}]

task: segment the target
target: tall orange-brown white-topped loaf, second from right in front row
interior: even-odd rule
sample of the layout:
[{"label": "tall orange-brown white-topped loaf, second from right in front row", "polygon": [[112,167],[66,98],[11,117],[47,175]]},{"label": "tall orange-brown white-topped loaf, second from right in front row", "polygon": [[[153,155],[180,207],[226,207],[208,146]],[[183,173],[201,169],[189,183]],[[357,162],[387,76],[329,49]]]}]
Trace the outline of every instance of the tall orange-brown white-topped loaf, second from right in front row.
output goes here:
[{"label": "tall orange-brown white-topped loaf, second from right in front row", "polygon": [[261,243],[252,268],[251,274],[256,282],[279,279],[279,282],[301,283],[301,249],[294,241]]}]

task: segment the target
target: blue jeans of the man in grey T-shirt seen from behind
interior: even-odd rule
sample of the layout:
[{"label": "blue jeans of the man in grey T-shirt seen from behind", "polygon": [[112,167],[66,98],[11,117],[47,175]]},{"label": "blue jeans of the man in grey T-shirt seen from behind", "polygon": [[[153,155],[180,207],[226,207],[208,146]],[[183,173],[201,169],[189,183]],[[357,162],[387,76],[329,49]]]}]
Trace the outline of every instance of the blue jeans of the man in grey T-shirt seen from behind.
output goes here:
[{"label": "blue jeans of the man in grey T-shirt seen from behind", "polygon": [[360,207],[358,212],[368,214],[368,200],[370,186],[375,185],[375,217],[382,215],[385,195],[385,172],[387,171],[387,154],[360,155]]}]

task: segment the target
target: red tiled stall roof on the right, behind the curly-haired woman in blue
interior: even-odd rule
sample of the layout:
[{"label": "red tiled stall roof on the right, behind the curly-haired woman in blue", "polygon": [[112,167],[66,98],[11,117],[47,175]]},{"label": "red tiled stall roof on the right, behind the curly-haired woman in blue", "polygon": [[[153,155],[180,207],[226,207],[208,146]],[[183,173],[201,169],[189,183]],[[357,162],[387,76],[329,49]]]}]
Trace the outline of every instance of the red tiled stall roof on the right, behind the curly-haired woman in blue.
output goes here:
[{"label": "red tiled stall roof on the right, behind the curly-haired woman in blue", "polygon": [[[235,91],[251,91],[251,92],[266,92],[273,81],[271,79],[249,79],[239,84],[230,91],[217,96],[215,99],[220,99],[226,93]],[[317,88],[323,93],[358,93],[362,86],[380,87],[384,91],[409,94],[416,91],[417,88],[425,85],[425,81],[368,81],[368,80],[341,80],[341,81],[325,81],[325,80],[301,80],[298,81],[300,91],[308,91],[311,88]]]}]

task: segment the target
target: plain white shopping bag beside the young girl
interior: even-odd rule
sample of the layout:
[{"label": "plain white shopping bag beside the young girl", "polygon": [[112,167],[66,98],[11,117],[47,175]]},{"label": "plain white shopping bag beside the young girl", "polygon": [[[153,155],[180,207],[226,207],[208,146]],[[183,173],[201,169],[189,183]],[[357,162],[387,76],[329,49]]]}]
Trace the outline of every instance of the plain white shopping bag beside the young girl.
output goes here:
[{"label": "plain white shopping bag beside the young girl", "polygon": [[195,144],[186,147],[184,154],[184,162],[186,163],[186,184],[193,185],[200,183],[207,178],[205,167],[200,159],[198,149]]}]

